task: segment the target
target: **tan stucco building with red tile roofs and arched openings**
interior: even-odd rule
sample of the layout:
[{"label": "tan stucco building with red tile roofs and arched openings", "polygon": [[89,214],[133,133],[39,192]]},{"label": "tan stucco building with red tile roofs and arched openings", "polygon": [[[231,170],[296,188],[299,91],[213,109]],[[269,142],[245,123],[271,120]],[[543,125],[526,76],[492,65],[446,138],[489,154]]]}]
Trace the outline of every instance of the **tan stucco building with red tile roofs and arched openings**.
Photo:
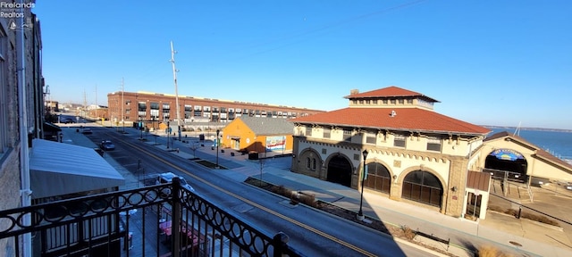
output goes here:
[{"label": "tan stucco building with red tile roofs and arched openings", "polygon": [[[489,129],[434,112],[438,101],[429,96],[385,87],[346,98],[348,108],[291,120],[292,171],[356,189],[363,182],[366,191],[396,201],[480,219],[491,178],[501,173],[519,183],[572,181],[568,163],[517,136],[487,138]],[[517,157],[507,164],[508,153]]]}]

